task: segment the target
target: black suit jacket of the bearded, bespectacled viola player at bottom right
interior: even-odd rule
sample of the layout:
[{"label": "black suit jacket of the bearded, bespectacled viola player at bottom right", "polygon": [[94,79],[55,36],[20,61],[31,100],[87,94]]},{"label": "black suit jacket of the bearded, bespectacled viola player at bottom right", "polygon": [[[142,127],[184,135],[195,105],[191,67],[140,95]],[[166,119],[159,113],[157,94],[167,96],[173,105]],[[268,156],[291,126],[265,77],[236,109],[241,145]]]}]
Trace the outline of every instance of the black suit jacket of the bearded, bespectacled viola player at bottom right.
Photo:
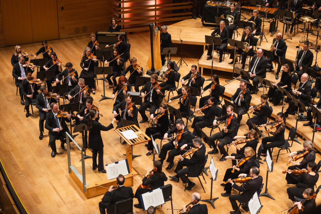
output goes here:
[{"label": "black suit jacket of the bearded, bespectacled viola player at bottom right", "polygon": [[241,193],[242,197],[239,201],[241,203],[247,204],[248,201],[250,201],[250,199],[254,195],[254,193],[261,188],[262,182],[263,182],[263,178],[261,175],[259,175],[257,178],[254,178],[252,181],[246,182],[242,186],[238,186],[237,184],[234,183],[232,187],[237,191],[242,192]]}]

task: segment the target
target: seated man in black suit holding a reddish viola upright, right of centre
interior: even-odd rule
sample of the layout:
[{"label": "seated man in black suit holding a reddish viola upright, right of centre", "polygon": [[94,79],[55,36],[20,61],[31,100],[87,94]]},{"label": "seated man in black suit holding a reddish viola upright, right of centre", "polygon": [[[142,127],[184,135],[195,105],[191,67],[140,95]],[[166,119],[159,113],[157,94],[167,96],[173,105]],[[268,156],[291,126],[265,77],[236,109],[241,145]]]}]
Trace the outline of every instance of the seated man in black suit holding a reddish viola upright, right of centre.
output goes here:
[{"label": "seated man in black suit holding a reddish viola upright, right of centre", "polygon": [[220,153],[222,155],[222,157],[220,158],[220,161],[223,161],[223,160],[225,160],[225,156],[229,155],[229,154],[227,154],[224,146],[227,144],[230,144],[233,141],[233,137],[236,135],[236,132],[237,132],[236,127],[237,127],[238,122],[237,122],[235,114],[233,113],[233,107],[228,106],[226,108],[226,115],[221,116],[221,117],[217,117],[213,121],[213,126],[217,125],[217,123],[216,123],[217,121],[221,121],[221,122],[225,121],[225,125],[224,125],[221,132],[215,133],[209,137],[210,146],[214,149],[212,151],[207,152],[207,153],[208,154],[216,153],[215,141],[219,138],[222,138],[221,142],[218,144],[218,148],[219,148]]}]

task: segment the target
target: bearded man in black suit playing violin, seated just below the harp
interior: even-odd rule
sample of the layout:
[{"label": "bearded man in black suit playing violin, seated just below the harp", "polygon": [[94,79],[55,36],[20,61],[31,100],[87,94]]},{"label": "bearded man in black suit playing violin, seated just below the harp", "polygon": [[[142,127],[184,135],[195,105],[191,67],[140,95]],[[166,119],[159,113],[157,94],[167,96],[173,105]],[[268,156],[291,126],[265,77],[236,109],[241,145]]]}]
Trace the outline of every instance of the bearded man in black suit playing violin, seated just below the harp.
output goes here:
[{"label": "bearded man in black suit playing violin, seated just below the harp", "polygon": [[160,105],[160,90],[158,90],[156,87],[153,88],[156,84],[157,79],[158,75],[156,73],[153,73],[151,76],[151,81],[147,82],[146,85],[142,88],[142,90],[140,90],[142,98],[144,98],[144,102],[138,109],[140,115],[143,118],[139,123],[144,123],[148,121],[148,117],[146,116],[145,112],[146,108],[150,109],[149,113],[152,119],[154,118],[156,109]]}]

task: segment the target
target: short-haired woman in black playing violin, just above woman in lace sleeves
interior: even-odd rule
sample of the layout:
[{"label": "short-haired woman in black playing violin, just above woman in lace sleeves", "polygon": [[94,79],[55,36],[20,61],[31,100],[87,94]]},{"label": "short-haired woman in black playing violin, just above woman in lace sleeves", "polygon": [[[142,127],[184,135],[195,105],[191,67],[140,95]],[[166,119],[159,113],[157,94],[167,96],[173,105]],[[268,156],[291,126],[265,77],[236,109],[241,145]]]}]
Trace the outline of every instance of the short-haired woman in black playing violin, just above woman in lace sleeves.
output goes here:
[{"label": "short-haired woman in black playing violin, just above woman in lace sleeves", "polygon": [[[256,108],[254,106],[250,106],[248,108],[248,110],[253,111],[253,115],[255,115],[254,117],[251,117],[246,121],[249,130],[252,128],[251,122],[256,125],[265,124],[267,122],[267,116],[269,114],[269,103],[267,102],[267,94],[262,94],[260,101],[261,104],[256,106]],[[258,112],[256,112],[255,110],[257,110]]]}]

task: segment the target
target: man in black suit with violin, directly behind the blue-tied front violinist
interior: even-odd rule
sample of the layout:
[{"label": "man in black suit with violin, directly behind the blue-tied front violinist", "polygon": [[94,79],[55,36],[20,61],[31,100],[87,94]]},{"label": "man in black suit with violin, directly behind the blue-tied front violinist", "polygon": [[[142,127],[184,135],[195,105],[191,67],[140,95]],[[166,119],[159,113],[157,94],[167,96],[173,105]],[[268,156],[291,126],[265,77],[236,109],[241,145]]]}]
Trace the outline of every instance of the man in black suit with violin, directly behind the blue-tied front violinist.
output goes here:
[{"label": "man in black suit with violin, directly behind the blue-tied front violinist", "polygon": [[52,97],[46,98],[46,95],[48,95],[47,86],[42,85],[39,90],[41,91],[41,93],[37,95],[36,108],[39,109],[39,140],[42,140],[44,131],[43,123],[46,119],[47,113],[51,112],[50,104],[57,103],[57,100]]}]

